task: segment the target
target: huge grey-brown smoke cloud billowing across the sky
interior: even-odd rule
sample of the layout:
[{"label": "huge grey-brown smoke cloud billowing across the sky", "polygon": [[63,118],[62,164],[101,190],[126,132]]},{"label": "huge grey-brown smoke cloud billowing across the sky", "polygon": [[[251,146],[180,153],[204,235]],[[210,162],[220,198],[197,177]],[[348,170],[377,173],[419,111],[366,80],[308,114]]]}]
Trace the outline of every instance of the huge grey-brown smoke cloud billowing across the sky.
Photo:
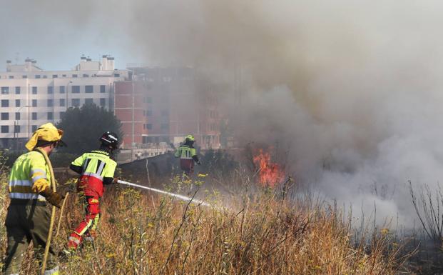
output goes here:
[{"label": "huge grey-brown smoke cloud billowing across the sky", "polygon": [[[8,4],[9,11],[21,11],[21,4]],[[57,25],[56,35],[72,34],[56,49],[48,47],[52,42],[37,46],[41,52],[88,44],[133,61],[208,71],[213,83],[230,84],[223,104],[240,138],[280,144],[280,154],[289,151],[290,173],[331,199],[364,209],[376,203],[378,215],[398,213],[408,224],[404,183],[436,186],[442,179],[439,1],[62,5],[68,4],[34,1],[24,22],[11,26],[23,31],[37,22],[40,29]]]}]

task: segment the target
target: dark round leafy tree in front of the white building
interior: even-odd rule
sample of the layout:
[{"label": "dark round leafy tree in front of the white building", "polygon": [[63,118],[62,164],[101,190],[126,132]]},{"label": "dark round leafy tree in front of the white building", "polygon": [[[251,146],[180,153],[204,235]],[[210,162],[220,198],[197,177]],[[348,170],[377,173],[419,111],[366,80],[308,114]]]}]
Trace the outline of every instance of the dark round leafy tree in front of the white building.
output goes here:
[{"label": "dark round leafy tree in front of the white building", "polygon": [[96,104],[69,108],[56,126],[64,131],[62,139],[68,144],[67,147],[62,147],[61,151],[71,154],[98,149],[98,139],[106,131],[116,133],[120,141],[123,138],[121,122],[112,111],[100,108]]}]

